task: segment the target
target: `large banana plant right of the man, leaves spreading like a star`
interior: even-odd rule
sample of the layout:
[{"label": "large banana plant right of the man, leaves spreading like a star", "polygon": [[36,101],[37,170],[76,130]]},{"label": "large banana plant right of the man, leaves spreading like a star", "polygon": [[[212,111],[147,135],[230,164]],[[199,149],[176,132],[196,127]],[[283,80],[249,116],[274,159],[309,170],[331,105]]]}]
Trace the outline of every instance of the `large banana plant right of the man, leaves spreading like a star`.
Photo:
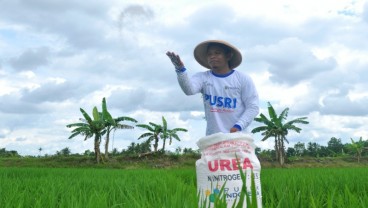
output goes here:
[{"label": "large banana plant right of the man, leaves spreading like a star", "polygon": [[252,133],[262,132],[263,139],[262,141],[267,140],[270,137],[274,137],[275,139],[275,151],[276,151],[276,159],[279,161],[280,165],[283,166],[285,163],[285,146],[284,141],[289,143],[286,139],[289,131],[296,131],[300,133],[301,128],[295,126],[294,124],[308,124],[306,121],[307,117],[297,118],[286,123],[283,123],[284,120],[287,119],[289,113],[289,108],[284,109],[279,116],[277,116],[275,109],[272,107],[271,103],[268,102],[268,114],[270,119],[268,119],[262,113],[259,117],[254,120],[260,123],[265,124],[264,126],[256,127],[252,130]]}]

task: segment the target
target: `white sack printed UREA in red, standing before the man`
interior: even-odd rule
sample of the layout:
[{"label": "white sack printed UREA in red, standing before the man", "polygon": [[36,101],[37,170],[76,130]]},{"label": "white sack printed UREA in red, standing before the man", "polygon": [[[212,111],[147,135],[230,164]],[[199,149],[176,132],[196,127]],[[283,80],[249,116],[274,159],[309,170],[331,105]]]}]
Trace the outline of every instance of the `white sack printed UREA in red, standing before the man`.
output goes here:
[{"label": "white sack printed UREA in red, standing before the man", "polygon": [[[202,155],[201,159],[196,161],[200,201],[207,198],[207,202],[213,207],[215,195],[220,193],[221,187],[226,182],[224,188],[226,202],[228,207],[233,205],[235,199],[240,196],[243,185],[236,159],[238,158],[240,167],[246,175],[248,194],[251,194],[251,173],[254,173],[257,207],[262,207],[261,165],[255,155],[255,145],[250,135],[216,133],[201,138],[197,145]],[[246,207],[245,203],[243,207]]]}]

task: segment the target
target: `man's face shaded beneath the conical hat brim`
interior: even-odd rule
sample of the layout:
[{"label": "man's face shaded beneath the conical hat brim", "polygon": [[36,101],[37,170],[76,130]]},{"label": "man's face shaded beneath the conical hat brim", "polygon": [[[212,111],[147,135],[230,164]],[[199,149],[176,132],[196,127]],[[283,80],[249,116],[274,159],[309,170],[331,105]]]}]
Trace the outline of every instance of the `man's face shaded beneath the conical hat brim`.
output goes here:
[{"label": "man's face shaded beneath the conical hat brim", "polygon": [[225,50],[220,46],[210,46],[207,49],[207,62],[214,70],[228,69],[230,57],[225,54]]}]

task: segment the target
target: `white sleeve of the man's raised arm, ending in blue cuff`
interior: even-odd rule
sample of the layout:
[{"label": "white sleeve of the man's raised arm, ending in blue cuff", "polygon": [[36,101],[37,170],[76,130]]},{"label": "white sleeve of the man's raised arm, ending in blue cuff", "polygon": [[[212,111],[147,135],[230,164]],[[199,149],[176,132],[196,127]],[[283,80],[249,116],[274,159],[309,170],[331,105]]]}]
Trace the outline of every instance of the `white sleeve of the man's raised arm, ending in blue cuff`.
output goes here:
[{"label": "white sleeve of the man's raised arm, ending in blue cuff", "polygon": [[202,75],[200,73],[195,74],[189,78],[186,69],[183,68],[177,71],[178,82],[186,95],[194,95],[202,91]]}]

